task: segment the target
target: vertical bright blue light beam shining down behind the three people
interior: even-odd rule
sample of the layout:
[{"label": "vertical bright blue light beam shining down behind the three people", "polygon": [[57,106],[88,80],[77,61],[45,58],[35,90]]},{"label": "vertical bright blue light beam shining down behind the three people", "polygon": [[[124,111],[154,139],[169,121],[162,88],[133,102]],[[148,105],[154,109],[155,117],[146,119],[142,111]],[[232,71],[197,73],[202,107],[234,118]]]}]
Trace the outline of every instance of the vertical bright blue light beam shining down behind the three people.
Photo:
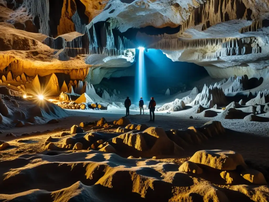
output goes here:
[{"label": "vertical bright blue light beam shining down behind the three people", "polygon": [[[144,47],[139,47],[139,59],[138,66],[136,68],[136,85],[135,85],[135,97],[134,101],[137,103],[140,97],[146,99],[147,97],[147,81],[146,81],[146,69],[144,67]],[[137,104],[136,104],[137,105]]]}]

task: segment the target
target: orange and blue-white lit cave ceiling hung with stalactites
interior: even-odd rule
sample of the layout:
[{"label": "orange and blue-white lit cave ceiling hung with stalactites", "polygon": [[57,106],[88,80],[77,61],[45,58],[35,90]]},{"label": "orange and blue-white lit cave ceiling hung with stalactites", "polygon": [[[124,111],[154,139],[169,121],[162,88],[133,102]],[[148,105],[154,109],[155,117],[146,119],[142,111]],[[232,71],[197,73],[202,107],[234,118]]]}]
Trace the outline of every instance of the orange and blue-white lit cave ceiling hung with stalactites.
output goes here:
[{"label": "orange and blue-white lit cave ceiling hung with stalactites", "polygon": [[98,83],[144,46],[214,78],[255,76],[269,67],[268,27],[268,0],[0,0],[0,72]]}]

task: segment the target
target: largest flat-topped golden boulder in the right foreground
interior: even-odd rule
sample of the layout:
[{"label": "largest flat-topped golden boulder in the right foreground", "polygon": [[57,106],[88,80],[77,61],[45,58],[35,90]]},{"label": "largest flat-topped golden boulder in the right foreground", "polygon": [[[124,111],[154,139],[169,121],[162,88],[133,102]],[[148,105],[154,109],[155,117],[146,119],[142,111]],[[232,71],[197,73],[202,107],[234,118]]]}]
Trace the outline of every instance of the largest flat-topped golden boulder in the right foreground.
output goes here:
[{"label": "largest flat-topped golden boulder in the right foreground", "polygon": [[246,167],[241,154],[228,150],[197,151],[189,161],[219,170],[235,170],[238,165]]}]

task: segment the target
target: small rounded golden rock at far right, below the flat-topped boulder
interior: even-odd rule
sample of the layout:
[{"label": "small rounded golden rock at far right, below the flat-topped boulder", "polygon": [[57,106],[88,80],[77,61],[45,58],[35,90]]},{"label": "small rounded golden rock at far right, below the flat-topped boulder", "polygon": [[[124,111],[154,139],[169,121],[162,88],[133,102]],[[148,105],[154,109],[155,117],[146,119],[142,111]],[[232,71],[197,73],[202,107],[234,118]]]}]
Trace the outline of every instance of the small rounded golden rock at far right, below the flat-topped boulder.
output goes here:
[{"label": "small rounded golden rock at far right, below the flat-topped boulder", "polygon": [[241,172],[241,176],[247,181],[254,184],[267,184],[263,173],[259,172],[258,170],[245,169]]}]

